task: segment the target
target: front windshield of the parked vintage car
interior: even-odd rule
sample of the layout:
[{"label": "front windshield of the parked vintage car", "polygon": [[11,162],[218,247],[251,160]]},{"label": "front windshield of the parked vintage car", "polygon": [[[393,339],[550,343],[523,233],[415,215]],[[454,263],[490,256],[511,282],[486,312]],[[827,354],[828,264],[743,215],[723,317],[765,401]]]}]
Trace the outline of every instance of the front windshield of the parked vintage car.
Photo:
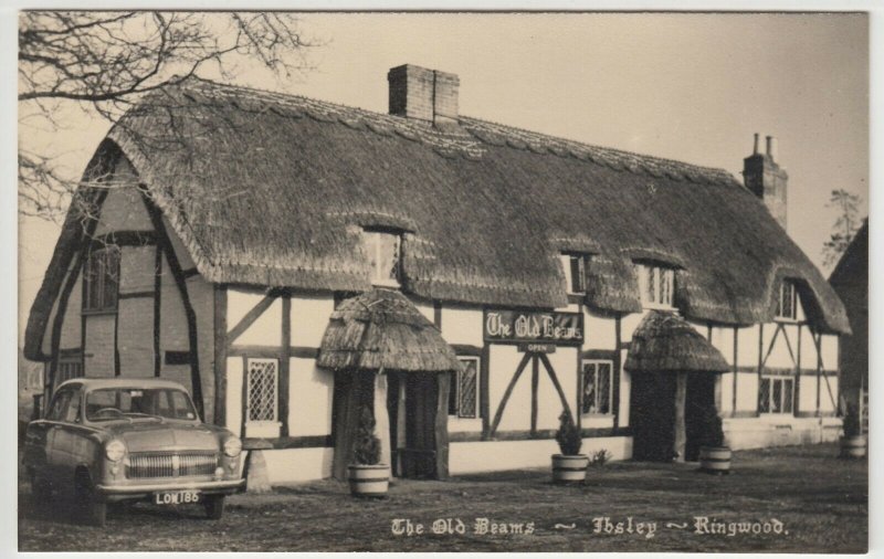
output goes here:
[{"label": "front windshield of the parked vintage car", "polygon": [[157,416],[194,420],[197,412],[187,393],[175,388],[103,388],[86,394],[86,419]]}]

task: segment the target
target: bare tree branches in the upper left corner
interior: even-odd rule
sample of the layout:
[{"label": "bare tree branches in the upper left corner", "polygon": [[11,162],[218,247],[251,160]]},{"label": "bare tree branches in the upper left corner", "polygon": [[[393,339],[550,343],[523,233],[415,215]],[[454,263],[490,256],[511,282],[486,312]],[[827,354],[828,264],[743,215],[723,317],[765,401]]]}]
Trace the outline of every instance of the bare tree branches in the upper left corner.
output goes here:
[{"label": "bare tree branches in the upper left corner", "polygon": [[[309,67],[290,13],[24,11],[19,20],[19,124],[57,129],[70,110],[117,120],[145,94],[249,61],[281,77]],[[94,183],[93,183],[94,184]],[[54,154],[20,143],[19,209],[57,220],[78,186]]]}]

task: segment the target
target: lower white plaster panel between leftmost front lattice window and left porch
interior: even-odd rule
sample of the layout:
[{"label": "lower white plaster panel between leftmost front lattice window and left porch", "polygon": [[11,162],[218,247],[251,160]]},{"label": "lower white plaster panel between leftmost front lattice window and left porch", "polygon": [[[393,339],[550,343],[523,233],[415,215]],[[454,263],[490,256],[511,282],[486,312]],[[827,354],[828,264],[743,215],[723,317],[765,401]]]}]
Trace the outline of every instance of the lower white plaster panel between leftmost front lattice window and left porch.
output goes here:
[{"label": "lower white plaster panel between leftmost front lattice window and left porch", "polygon": [[316,367],[316,359],[288,360],[288,435],[332,433],[334,373]]}]

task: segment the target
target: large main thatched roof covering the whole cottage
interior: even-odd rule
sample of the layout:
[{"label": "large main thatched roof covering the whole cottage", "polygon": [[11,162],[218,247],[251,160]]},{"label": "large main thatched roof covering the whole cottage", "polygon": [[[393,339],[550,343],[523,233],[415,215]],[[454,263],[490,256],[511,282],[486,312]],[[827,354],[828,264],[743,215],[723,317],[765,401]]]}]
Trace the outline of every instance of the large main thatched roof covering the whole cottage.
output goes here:
[{"label": "large main thatched roof covering the whole cottage", "polygon": [[406,232],[403,288],[422,298],[556,307],[556,256],[580,251],[597,309],[639,310],[631,264],[651,257],[681,266],[692,319],[767,321],[790,277],[820,330],[848,329],[819,271],[720,169],[199,80],[147,97],[107,143],[211,282],[366,291],[359,228],[392,226]]}]

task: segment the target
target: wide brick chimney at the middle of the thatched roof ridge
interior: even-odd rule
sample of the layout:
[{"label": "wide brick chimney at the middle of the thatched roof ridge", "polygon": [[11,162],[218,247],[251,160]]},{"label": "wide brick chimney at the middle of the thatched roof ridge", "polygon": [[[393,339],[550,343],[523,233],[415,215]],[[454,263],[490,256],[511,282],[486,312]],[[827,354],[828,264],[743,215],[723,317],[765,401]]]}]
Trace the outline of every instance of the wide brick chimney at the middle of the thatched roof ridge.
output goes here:
[{"label": "wide brick chimney at the middle of the thatched roof ridge", "polygon": [[390,114],[418,118],[435,125],[456,124],[456,74],[403,64],[387,73],[390,84]]}]

